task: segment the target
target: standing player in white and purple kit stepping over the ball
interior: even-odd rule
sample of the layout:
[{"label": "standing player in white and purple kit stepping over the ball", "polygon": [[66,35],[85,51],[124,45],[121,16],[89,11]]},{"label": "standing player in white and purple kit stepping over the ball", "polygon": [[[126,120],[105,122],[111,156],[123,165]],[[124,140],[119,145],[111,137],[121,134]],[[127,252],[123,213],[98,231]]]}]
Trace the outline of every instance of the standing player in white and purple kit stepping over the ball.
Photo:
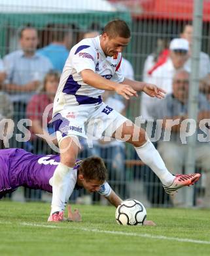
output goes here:
[{"label": "standing player in white and purple kit stepping over the ball", "polygon": [[105,26],[102,35],[83,39],[70,51],[54,100],[54,128],[61,159],[53,176],[50,221],[58,221],[62,216],[67,177],[73,171],[79,152],[78,137],[99,139],[105,132],[106,137],[126,140],[156,173],[168,193],[175,193],[200,178],[200,174],[173,176],[169,173],[145,130],[102,102],[103,90],[115,91],[126,99],[137,96],[137,91],[164,97],[165,92],[156,85],[124,78],[120,70],[121,53],[130,37],[126,22],[113,20]]}]

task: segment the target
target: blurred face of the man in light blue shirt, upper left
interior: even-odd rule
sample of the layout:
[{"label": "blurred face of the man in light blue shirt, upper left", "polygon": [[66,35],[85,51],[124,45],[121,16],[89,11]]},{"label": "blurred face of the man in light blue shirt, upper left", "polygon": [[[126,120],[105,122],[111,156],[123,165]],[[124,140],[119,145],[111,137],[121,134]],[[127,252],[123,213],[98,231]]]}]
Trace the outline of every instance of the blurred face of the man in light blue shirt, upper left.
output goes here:
[{"label": "blurred face of the man in light blue shirt, upper left", "polygon": [[38,45],[37,31],[32,28],[24,30],[20,38],[20,45],[24,52],[34,53]]}]

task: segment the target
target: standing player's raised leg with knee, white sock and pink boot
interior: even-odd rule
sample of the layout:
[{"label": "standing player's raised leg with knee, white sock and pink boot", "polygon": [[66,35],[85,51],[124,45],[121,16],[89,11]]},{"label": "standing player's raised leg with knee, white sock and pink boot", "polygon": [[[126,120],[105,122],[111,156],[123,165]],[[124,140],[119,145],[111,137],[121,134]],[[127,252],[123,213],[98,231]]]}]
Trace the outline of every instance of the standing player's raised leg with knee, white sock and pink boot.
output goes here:
[{"label": "standing player's raised leg with knee, white sock and pink boot", "polygon": [[[131,121],[129,121],[131,122]],[[116,139],[128,138],[126,142],[132,144],[141,160],[154,171],[162,182],[164,189],[167,193],[173,194],[177,189],[183,186],[190,186],[194,182],[200,179],[199,173],[194,173],[190,175],[172,175],[166,168],[164,161],[162,160],[160,154],[146,137],[145,130],[137,127],[131,123],[122,124],[122,127],[119,127],[113,134],[113,137]]]}]

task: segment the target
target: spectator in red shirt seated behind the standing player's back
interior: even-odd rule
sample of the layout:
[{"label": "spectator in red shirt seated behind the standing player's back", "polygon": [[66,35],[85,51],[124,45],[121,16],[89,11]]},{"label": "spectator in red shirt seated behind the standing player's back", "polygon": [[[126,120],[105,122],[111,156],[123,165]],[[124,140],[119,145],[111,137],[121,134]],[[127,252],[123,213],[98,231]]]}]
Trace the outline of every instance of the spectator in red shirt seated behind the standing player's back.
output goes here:
[{"label": "spectator in red shirt seated behind the standing player's back", "polygon": [[[60,80],[60,74],[52,70],[48,72],[43,81],[43,87],[41,87],[40,93],[33,95],[26,108],[26,116],[31,119],[32,126],[30,127],[31,131],[31,140],[28,146],[33,146],[33,152],[36,154],[50,154],[52,149],[44,139],[38,137],[37,134],[43,134],[43,118],[46,118],[46,123],[48,125],[48,133],[54,133],[53,126],[50,125],[52,119],[52,106],[50,112],[47,113],[48,116],[43,116],[46,106],[52,104],[54,101],[54,96],[58,89],[58,83]],[[57,139],[50,137],[49,139],[53,140],[57,144]],[[29,149],[29,148],[28,148]]]}]

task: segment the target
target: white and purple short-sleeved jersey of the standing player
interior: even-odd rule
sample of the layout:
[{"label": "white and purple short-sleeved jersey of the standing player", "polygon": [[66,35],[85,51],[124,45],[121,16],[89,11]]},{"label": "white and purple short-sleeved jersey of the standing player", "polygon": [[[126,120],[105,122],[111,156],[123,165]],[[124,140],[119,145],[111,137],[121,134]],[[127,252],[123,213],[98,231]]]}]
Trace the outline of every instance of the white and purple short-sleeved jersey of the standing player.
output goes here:
[{"label": "white and purple short-sleeved jersey of the standing player", "polygon": [[99,36],[83,39],[77,43],[71,49],[61,74],[54,100],[54,115],[63,110],[65,104],[79,106],[101,103],[103,90],[84,83],[80,72],[92,70],[106,79],[120,83],[124,81],[124,75],[120,70],[121,60],[121,53],[112,57],[105,56],[101,49]]}]

